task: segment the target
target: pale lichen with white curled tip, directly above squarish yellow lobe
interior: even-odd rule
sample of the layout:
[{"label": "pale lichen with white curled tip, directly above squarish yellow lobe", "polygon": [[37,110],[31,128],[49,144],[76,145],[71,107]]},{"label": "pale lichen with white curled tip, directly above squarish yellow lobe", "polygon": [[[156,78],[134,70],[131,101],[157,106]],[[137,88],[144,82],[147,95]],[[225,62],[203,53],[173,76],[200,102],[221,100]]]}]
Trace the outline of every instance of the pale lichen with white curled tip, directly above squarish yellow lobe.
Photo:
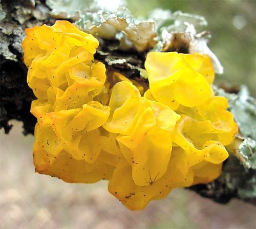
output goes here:
[{"label": "pale lichen with white curled tip, directly above squarish yellow lobe", "polygon": [[207,26],[204,17],[181,11],[172,13],[161,9],[154,10],[150,16],[156,20],[159,33],[158,43],[153,51],[207,54],[214,64],[215,72],[223,74],[223,66],[219,59],[208,48],[209,32],[197,33],[196,31]]}]

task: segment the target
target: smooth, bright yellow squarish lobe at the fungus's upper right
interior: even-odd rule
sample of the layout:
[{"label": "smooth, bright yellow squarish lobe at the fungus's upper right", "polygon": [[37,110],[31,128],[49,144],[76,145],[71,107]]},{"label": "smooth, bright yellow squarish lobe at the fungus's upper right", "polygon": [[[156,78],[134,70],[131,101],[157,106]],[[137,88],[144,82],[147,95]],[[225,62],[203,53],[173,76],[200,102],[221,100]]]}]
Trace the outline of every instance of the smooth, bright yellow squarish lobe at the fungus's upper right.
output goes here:
[{"label": "smooth, bright yellow squarish lobe at the fungus's upper right", "polygon": [[213,67],[209,62],[209,71],[205,69],[205,59],[199,54],[148,53],[145,67],[153,97],[174,110],[209,100]]}]

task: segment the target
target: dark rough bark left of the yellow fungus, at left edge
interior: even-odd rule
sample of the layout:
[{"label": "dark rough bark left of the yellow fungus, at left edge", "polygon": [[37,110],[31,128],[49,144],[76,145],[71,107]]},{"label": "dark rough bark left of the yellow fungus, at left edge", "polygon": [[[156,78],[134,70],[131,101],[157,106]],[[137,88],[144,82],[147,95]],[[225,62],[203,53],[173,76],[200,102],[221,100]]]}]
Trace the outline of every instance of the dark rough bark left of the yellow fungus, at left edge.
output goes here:
[{"label": "dark rough bark left of the yellow fungus, at left edge", "polygon": [[27,67],[23,62],[20,46],[24,30],[34,25],[53,23],[49,18],[50,9],[44,1],[2,1],[3,11],[0,23],[0,58],[1,58],[1,118],[0,128],[8,133],[9,120],[16,119],[24,124],[24,134],[33,133],[36,119],[29,112],[33,91],[27,86]]}]

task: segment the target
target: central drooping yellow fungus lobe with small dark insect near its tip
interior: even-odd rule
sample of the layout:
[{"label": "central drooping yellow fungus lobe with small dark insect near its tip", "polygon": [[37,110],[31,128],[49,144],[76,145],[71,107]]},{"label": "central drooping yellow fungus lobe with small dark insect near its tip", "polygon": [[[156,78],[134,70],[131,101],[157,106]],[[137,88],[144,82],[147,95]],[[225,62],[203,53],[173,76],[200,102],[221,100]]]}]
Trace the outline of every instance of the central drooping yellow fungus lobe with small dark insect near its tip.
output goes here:
[{"label": "central drooping yellow fungus lobe with small dark insect near its tip", "polygon": [[180,116],[161,103],[141,97],[128,81],[115,84],[109,105],[111,114],[104,128],[119,133],[116,139],[122,155],[132,166],[135,184],[149,185],[148,171],[156,180],[166,172],[172,134]]}]

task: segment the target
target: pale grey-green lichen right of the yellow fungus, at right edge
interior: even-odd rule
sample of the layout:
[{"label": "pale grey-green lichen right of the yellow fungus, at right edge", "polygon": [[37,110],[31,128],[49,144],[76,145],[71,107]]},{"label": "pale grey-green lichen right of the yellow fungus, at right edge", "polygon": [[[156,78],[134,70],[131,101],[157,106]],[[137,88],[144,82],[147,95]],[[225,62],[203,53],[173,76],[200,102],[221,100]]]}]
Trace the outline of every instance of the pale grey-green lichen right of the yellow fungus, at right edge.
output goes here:
[{"label": "pale grey-green lichen right of the yellow fungus, at right edge", "polygon": [[[246,169],[256,172],[256,100],[249,96],[246,86],[241,86],[238,94],[226,93],[214,86],[215,94],[228,99],[228,109],[233,113],[234,120],[239,125],[239,133],[229,151],[239,159]],[[255,180],[255,177],[254,177]],[[255,184],[256,187],[256,184]],[[255,189],[255,187],[253,189]],[[255,195],[256,197],[256,192]]]}]

